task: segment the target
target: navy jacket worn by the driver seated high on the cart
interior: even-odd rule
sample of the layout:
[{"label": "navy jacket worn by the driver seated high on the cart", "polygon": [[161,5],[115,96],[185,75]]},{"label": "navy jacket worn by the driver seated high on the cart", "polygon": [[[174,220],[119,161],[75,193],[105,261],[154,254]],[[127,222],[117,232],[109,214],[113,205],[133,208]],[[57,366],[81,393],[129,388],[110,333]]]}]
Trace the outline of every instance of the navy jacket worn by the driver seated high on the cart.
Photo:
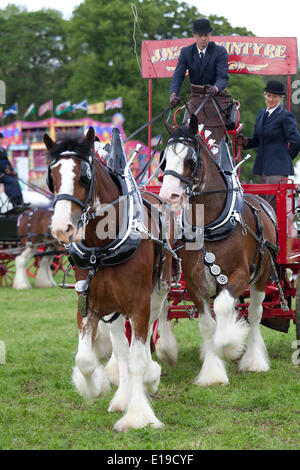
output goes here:
[{"label": "navy jacket worn by the driver seated high on the cart", "polygon": [[228,82],[228,54],[224,47],[211,41],[201,65],[197,44],[183,47],[171,79],[170,94],[179,94],[187,70],[192,84],[215,85],[223,91]]}]

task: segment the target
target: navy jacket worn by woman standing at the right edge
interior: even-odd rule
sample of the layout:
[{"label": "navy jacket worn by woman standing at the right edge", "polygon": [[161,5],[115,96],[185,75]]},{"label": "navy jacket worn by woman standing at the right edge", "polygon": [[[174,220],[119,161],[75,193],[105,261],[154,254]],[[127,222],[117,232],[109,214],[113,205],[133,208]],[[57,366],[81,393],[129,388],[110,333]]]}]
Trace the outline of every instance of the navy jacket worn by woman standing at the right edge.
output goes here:
[{"label": "navy jacket worn by woman standing at the right edge", "polygon": [[[293,175],[292,157],[287,147],[288,142],[300,145],[300,134],[293,113],[281,105],[263,122],[265,109],[261,109],[256,118],[253,136],[248,139],[246,149],[258,147],[253,174]],[[296,156],[296,155],[295,155]]]}]

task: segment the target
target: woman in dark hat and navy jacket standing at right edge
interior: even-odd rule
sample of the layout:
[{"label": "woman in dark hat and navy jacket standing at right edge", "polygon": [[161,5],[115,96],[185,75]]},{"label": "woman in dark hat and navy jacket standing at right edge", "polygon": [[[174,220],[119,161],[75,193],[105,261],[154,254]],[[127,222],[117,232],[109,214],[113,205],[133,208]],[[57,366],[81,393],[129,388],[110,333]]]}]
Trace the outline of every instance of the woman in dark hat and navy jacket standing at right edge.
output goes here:
[{"label": "woman in dark hat and navy jacket standing at right edge", "polygon": [[[260,184],[276,184],[294,174],[292,158],[296,155],[289,152],[288,143],[299,147],[300,134],[294,114],[282,106],[283,84],[270,80],[264,92],[266,108],[257,114],[253,136],[248,139],[240,134],[237,144],[244,149],[257,147],[253,174],[259,175]],[[265,199],[276,210],[275,194],[267,195]]]}]

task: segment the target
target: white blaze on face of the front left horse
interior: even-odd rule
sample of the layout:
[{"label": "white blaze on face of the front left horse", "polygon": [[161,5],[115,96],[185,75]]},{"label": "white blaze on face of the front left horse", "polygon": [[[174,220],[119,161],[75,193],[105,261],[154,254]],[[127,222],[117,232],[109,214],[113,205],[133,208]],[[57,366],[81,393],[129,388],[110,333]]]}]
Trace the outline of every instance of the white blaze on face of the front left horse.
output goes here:
[{"label": "white blaze on face of the front left horse", "polygon": [[[61,185],[57,194],[70,194],[74,192],[74,178],[73,171],[75,162],[71,158],[60,159],[59,162],[51,166],[55,168],[59,166],[61,175]],[[68,230],[68,225],[71,224],[71,201],[58,201],[55,205],[55,211],[52,217],[51,230],[54,236],[59,232],[65,233]]]}]

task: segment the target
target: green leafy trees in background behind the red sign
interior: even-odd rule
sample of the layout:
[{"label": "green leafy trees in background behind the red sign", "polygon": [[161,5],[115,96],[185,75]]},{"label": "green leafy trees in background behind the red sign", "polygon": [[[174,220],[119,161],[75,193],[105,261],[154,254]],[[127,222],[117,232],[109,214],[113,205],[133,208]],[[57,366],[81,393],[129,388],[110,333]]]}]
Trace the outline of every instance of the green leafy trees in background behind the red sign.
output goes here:
[{"label": "green leafy trees in background behind the red sign", "polygon": [[[124,130],[130,135],[148,121],[148,83],[140,70],[142,41],[191,37],[193,22],[201,16],[196,7],[177,0],[84,0],[68,20],[54,9],[0,9],[0,80],[6,84],[7,106],[18,102],[23,116],[30,103],[50,98],[56,104],[83,99],[95,103],[122,96]],[[209,20],[216,36],[253,36],[243,26],[232,27],[223,16],[211,15]],[[169,105],[169,83],[153,80],[153,116]],[[264,84],[262,76],[230,74],[227,90],[241,103],[245,135],[252,134],[257,111],[264,106]],[[181,95],[189,96],[188,80]],[[93,117],[110,121],[113,112]],[[64,115],[84,116],[84,111]],[[152,134],[161,132],[157,121]],[[137,138],[147,142],[147,130]],[[250,172],[246,174],[247,179]]]}]

